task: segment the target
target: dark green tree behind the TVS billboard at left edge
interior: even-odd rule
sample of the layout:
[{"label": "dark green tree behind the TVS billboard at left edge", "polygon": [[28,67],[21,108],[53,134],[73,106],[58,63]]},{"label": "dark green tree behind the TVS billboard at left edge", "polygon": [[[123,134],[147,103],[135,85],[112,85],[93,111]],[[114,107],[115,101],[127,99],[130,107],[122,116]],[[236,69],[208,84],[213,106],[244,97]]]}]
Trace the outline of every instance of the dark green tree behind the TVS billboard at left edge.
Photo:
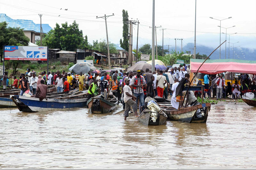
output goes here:
[{"label": "dark green tree behind the TVS billboard at left edge", "polygon": [[[0,23],[0,56],[1,62],[3,58],[3,46],[11,45],[11,46],[28,46],[29,38],[25,36],[23,29],[7,27],[6,22]],[[22,61],[10,60],[5,62],[6,70],[12,66],[14,75],[16,73],[16,69]]]}]

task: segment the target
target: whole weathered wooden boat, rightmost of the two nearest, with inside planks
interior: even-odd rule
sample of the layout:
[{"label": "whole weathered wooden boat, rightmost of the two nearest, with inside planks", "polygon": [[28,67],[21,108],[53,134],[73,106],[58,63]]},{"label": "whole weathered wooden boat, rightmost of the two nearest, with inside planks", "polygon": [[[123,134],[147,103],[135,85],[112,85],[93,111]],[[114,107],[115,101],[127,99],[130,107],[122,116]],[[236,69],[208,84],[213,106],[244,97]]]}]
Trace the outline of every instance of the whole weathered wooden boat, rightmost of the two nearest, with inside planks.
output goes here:
[{"label": "whole weathered wooden boat, rightmost of the two nearest, with inside planks", "polygon": [[[163,101],[163,99],[155,98],[157,101]],[[188,123],[205,123],[207,121],[208,112],[211,109],[211,103],[203,103],[191,107],[184,107],[180,110],[172,107],[171,102],[164,100],[165,102],[157,102],[161,109],[164,109],[167,119],[173,121],[181,121]],[[200,109],[200,110],[198,110]],[[196,113],[203,113],[204,116],[198,118]]]}]

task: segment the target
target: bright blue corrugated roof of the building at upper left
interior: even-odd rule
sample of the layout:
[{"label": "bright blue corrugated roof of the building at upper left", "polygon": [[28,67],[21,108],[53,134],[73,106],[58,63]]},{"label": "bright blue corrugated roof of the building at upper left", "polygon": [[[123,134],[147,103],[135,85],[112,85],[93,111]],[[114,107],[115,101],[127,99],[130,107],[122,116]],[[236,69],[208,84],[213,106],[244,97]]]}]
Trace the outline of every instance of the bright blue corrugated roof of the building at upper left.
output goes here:
[{"label": "bright blue corrugated roof of the building at upper left", "polygon": [[[4,21],[7,22],[8,27],[20,27],[24,29],[24,31],[34,31],[36,33],[40,33],[40,24],[35,24],[32,20],[12,19],[6,14],[0,14],[0,22]],[[48,33],[52,27],[50,27],[49,24],[42,24],[42,29],[44,33]]]}]

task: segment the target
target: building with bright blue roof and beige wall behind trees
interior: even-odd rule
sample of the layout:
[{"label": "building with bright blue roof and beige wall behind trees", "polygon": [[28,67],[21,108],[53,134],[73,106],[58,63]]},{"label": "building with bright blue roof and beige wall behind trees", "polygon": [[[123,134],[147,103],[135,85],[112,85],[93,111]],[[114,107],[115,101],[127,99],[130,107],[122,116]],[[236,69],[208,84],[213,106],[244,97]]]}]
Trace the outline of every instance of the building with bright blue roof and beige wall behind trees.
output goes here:
[{"label": "building with bright blue roof and beige wall behind trees", "polygon": [[[4,21],[8,24],[8,27],[23,29],[30,42],[36,43],[36,39],[40,40],[40,24],[35,24],[32,20],[12,19],[6,14],[0,14],[0,22]],[[42,33],[48,33],[50,30],[52,30],[52,27],[49,24],[42,24]]]}]

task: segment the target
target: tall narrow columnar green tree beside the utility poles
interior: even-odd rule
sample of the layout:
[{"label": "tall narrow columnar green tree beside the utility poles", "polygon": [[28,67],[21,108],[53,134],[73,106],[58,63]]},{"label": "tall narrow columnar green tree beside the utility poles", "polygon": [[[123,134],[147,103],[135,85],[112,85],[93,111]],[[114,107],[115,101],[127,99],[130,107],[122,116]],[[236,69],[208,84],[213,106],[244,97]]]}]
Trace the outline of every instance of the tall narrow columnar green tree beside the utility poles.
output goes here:
[{"label": "tall narrow columnar green tree beside the utility poles", "polygon": [[120,46],[124,48],[126,51],[129,50],[129,39],[128,39],[128,34],[129,34],[129,16],[128,12],[123,10],[123,42],[122,39],[120,39]]}]

